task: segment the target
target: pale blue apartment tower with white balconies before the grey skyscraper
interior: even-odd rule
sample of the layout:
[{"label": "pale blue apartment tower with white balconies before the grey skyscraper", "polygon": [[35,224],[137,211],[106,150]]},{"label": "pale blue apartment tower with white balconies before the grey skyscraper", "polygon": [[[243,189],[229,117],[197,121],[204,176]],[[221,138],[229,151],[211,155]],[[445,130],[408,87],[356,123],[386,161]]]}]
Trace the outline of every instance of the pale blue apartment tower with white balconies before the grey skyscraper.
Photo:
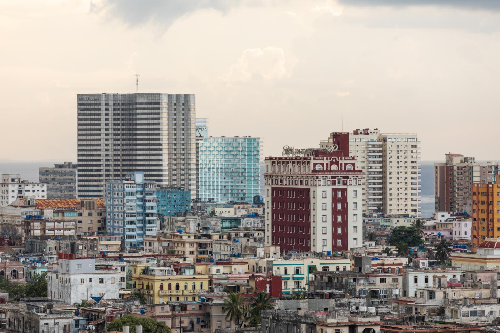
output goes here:
[{"label": "pale blue apartment tower with white balconies before the grey skyscraper", "polygon": [[156,234],[156,183],[144,181],[144,172],[106,181],[105,202],[107,233],[120,235],[122,248],[142,246]]}]

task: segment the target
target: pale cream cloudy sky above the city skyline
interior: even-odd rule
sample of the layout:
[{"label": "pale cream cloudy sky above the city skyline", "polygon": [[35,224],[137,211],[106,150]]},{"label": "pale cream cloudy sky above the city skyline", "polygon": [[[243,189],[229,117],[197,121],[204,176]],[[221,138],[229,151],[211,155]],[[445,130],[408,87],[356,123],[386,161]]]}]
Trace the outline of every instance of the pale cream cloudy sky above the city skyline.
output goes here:
[{"label": "pale cream cloudy sky above the city skyline", "polygon": [[266,156],[378,128],[500,159],[499,1],[3,0],[0,30],[0,160],[76,160],[76,94],[134,74]]}]

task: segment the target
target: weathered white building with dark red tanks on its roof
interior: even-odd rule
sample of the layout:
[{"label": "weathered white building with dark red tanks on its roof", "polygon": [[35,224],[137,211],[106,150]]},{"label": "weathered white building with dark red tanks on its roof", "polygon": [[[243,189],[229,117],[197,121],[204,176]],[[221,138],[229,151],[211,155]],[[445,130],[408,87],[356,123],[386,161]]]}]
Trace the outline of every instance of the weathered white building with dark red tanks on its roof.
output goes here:
[{"label": "weathered white building with dark red tanks on its roof", "polygon": [[47,296],[66,304],[80,303],[92,296],[117,299],[119,269],[95,269],[95,259],[75,259],[74,254],[59,253],[47,275]]}]

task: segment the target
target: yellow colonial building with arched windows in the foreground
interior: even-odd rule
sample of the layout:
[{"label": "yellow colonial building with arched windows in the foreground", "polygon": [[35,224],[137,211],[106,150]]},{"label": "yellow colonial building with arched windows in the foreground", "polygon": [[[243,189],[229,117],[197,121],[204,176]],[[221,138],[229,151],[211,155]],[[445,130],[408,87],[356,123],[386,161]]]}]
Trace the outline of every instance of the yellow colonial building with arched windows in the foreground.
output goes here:
[{"label": "yellow colonial building with arched windows in the foreground", "polygon": [[192,266],[180,267],[176,274],[172,267],[134,263],[132,289],[147,297],[148,304],[167,301],[193,301],[201,290],[208,290],[208,275],[195,274]]}]

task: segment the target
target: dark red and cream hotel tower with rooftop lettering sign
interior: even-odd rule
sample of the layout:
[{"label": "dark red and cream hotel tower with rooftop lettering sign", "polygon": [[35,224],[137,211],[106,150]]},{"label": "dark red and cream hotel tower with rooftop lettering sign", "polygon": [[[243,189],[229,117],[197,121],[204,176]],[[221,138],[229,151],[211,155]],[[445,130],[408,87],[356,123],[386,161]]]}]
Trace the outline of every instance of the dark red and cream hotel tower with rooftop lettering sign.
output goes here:
[{"label": "dark red and cream hotel tower with rooftop lettering sign", "polygon": [[349,156],[349,133],[330,146],[283,147],[264,159],[265,244],[282,250],[340,251],[362,245],[362,171]]}]

